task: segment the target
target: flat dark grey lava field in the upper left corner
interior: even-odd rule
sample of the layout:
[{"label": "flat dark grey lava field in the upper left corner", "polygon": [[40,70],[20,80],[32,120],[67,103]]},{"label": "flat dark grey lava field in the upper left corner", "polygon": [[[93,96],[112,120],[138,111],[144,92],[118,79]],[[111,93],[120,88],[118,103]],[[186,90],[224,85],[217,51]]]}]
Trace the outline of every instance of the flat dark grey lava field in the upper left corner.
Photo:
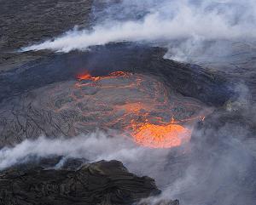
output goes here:
[{"label": "flat dark grey lava field in the upper left corner", "polygon": [[75,25],[89,26],[92,0],[0,0],[0,71],[48,55],[16,50],[61,35]]}]

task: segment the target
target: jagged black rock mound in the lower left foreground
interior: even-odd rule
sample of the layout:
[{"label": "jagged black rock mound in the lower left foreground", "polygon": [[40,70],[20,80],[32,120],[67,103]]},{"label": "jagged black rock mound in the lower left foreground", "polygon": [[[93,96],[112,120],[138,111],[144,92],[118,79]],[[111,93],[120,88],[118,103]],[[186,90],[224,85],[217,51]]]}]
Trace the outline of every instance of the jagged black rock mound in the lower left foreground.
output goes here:
[{"label": "jagged black rock mound in the lower left foreground", "polygon": [[154,179],[137,177],[118,161],[95,162],[76,171],[9,168],[0,175],[0,204],[4,205],[120,205],[158,194]]}]

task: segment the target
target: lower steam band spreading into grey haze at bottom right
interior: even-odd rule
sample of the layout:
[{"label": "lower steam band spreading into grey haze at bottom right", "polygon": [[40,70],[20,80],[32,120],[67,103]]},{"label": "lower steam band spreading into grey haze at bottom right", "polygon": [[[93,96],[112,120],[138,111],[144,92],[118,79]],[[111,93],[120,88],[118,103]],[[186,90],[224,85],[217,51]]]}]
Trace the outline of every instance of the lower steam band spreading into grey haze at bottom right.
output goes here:
[{"label": "lower steam band spreading into grey haze at bottom right", "polygon": [[226,123],[218,130],[195,131],[196,143],[175,149],[148,149],[119,134],[109,137],[102,132],[73,139],[41,137],[0,150],[0,169],[52,155],[84,157],[90,162],[117,159],[131,172],[156,179],[163,193],[150,202],[177,198],[190,205],[253,204],[256,142],[248,134],[247,128]]}]

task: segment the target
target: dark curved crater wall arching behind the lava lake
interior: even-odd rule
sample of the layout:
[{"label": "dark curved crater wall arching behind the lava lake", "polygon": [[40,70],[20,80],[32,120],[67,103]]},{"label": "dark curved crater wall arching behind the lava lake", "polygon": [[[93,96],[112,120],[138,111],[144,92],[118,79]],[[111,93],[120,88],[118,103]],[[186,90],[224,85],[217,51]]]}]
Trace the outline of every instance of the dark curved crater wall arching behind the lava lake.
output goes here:
[{"label": "dark curved crater wall arching behind the lava lake", "polygon": [[0,74],[0,101],[50,83],[74,79],[83,71],[108,75],[112,71],[131,71],[159,77],[170,89],[209,105],[223,105],[234,94],[224,73],[200,66],[165,60],[163,48],[114,43],[91,48],[90,52],[53,54]]}]

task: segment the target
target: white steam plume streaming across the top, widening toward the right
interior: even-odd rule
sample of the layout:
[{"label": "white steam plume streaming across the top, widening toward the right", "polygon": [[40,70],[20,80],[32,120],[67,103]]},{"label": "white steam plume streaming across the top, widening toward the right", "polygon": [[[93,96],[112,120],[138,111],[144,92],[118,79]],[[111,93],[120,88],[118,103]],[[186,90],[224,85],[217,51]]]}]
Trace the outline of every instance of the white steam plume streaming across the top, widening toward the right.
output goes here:
[{"label": "white steam plume streaming across the top, widening toward the right", "polygon": [[[246,42],[256,37],[256,3],[253,0],[102,2],[107,6],[104,4],[105,8],[103,6],[103,9],[95,10],[97,23],[91,29],[68,31],[53,41],[23,50],[52,49],[69,52],[94,45],[131,41],[168,44],[170,55],[182,60],[186,55],[195,54],[196,48],[202,48],[205,42]],[[101,8],[101,5],[96,6]]]}]

